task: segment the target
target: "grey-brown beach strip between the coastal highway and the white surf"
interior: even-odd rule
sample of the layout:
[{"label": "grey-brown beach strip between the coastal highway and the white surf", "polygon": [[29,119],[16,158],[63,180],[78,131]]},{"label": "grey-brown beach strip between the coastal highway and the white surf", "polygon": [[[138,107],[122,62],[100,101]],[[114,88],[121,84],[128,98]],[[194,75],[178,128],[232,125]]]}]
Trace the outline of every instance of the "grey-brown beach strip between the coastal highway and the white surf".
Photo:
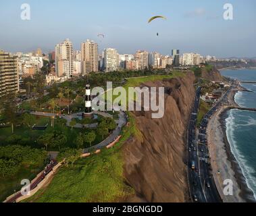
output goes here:
[{"label": "grey-brown beach strip between the coastal highway and the white surf", "polygon": [[[230,93],[230,105],[236,105],[234,95]],[[237,106],[237,105],[236,105]],[[247,187],[242,170],[232,155],[230,144],[226,136],[226,117],[228,107],[222,107],[213,115],[207,127],[209,140],[209,154],[213,168],[213,178],[224,202],[253,202],[253,192]],[[224,196],[224,180],[232,180],[233,196]]]}]

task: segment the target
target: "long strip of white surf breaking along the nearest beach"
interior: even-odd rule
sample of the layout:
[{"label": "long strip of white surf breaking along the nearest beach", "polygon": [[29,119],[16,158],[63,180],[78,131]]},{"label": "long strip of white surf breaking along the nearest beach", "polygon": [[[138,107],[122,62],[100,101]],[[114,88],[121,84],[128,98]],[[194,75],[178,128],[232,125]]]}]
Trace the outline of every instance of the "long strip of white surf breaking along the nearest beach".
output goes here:
[{"label": "long strip of white surf breaking along the nearest beach", "polygon": [[228,138],[228,142],[230,143],[231,152],[234,155],[236,161],[238,162],[240,168],[242,169],[242,175],[244,175],[245,177],[248,188],[253,191],[256,200],[256,178],[253,176],[253,173],[255,173],[255,169],[247,165],[248,162],[245,159],[245,156],[242,155],[242,153],[238,149],[236,137],[234,136],[234,131],[236,128],[234,115],[235,111],[230,110],[229,116],[226,119],[226,135]]}]

